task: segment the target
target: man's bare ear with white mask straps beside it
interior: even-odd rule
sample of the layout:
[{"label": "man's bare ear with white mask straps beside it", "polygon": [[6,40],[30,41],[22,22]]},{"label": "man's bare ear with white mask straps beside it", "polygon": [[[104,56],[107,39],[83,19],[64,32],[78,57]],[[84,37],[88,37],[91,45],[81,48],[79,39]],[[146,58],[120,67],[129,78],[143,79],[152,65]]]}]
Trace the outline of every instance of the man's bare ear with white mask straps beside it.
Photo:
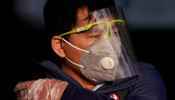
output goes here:
[{"label": "man's bare ear with white mask straps beside it", "polygon": [[62,48],[62,40],[59,36],[53,36],[51,40],[53,51],[61,58],[65,57],[64,49]]}]

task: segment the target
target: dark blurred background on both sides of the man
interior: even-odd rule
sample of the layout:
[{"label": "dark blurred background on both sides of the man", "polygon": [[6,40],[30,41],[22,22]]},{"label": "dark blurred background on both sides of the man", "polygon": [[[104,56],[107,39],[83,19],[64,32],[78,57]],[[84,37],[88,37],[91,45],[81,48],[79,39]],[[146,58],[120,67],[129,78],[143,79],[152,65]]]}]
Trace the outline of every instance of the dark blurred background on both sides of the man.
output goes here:
[{"label": "dark blurred background on both sides of the man", "polygon": [[[22,67],[37,62],[47,52],[43,7],[46,0],[11,0],[2,8],[2,44],[5,51],[5,80],[12,92]],[[116,1],[116,0],[115,0]],[[2,3],[3,4],[3,3]],[[119,0],[139,61],[149,62],[160,72],[168,99],[174,89],[175,0]],[[4,75],[4,74],[3,74]],[[6,82],[5,82],[6,84]],[[13,96],[9,91],[8,97]]]}]

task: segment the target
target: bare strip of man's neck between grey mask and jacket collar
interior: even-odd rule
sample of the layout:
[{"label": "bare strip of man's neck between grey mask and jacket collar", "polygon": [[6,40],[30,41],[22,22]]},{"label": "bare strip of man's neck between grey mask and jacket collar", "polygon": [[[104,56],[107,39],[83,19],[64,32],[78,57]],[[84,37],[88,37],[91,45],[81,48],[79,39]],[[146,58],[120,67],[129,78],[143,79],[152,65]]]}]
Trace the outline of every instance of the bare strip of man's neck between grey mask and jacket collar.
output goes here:
[{"label": "bare strip of man's neck between grey mask and jacket collar", "polygon": [[61,69],[67,73],[69,76],[74,78],[78,83],[80,83],[83,88],[93,90],[97,85],[88,79],[86,79],[80,72],[80,68],[77,66],[68,66],[67,64],[61,64]]}]

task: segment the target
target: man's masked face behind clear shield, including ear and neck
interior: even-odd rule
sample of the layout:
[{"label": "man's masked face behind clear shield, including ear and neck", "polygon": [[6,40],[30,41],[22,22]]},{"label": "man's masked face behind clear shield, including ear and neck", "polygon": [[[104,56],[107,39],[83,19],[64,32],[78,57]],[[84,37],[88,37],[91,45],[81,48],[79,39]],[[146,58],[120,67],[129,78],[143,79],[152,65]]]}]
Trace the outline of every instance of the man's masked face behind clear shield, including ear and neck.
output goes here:
[{"label": "man's masked face behind clear shield, including ear and neck", "polygon": [[[128,44],[125,44],[126,41],[122,43],[119,36],[120,34],[123,36],[125,30],[122,27],[125,22],[117,19],[118,13],[115,13],[112,7],[90,13],[92,15],[90,19],[88,19],[87,11],[87,9],[79,9],[75,27],[69,32],[52,38],[53,50],[58,56],[65,58],[61,62],[62,70],[78,80],[80,84],[91,81],[113,81],[116,78],[136,75],[137,72],[133,72],[135,68],[130,66],[130,64],[135,66],[135,63],[132,64],[132,60],[129,60],[128,50],[125,50],[128,48],[125,48]],[[118,28],[121,28],[120,34]],[[65,40],[62,36],[67,34],[70,36],[68,40]],[[122,46],[124,49],[121,48]],[[132,70],[128,70],[128,68]],[[86,79],[89,81],[85,81]]]}]

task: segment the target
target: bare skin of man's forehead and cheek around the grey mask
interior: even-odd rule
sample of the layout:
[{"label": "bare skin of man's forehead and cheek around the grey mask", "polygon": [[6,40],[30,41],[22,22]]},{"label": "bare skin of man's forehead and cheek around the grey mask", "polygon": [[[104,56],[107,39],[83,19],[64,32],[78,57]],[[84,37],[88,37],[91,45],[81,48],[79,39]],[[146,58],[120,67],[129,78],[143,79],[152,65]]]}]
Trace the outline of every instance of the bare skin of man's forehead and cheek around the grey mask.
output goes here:
[{"label": "bare skin of man's forehead and cheek around the grey mask", "polygon": [[[95,16],[94,12],[94,16]],[[75,30],[77,28],[83,27],[87,24],[90,23],[94,23],[94,22],[100,22],[100,21],[105,21],[105,22],[110,22],[111,20],[114,20],[115,18],[113,17],[100,17],[100,18],[95,18],[92,17],[91,20],[89,21],[87,19],[88,16],[88,11],[85,8],[84,10],[79,9],[78,13],[77,13],[77,25],[72,29]],[[99,16],[98,16],[99,17]],[[86,20],[85,20],[86,19]],[[96,26],[94,26],[96,27]],[[102,34],[103,28],[99,28],[99,27],[105,27],[105,25],[98,25],[94,30],[93,28],[91,30],[88,31],[84,31],[84,32],[80,32],[80,33],[74,33],[74,34],[70,34],[69,37],[69,42],[73,45],[75,45],[76,47],[79,47],[81,49],[86,50],[89,46],[91,46],[92,44],[94,44],[95,42],[97,42],[98,40],[101,40],[103,37]],[[115,29],[116,31],[118,31],[118,29]],[[100,32],[97,32],[100,31]],[[76,48],[73,48],[72,46],[70,46],[67,43],[63,43],[63,49],[65,51],[65,55],[67,58],[69,58],[71,61],[75,62],[75,63],[79,63],[79,59],[80,56],[82,55],[83,51],[77,50]],[[69,63],[69,62],[68,62]]]}]

